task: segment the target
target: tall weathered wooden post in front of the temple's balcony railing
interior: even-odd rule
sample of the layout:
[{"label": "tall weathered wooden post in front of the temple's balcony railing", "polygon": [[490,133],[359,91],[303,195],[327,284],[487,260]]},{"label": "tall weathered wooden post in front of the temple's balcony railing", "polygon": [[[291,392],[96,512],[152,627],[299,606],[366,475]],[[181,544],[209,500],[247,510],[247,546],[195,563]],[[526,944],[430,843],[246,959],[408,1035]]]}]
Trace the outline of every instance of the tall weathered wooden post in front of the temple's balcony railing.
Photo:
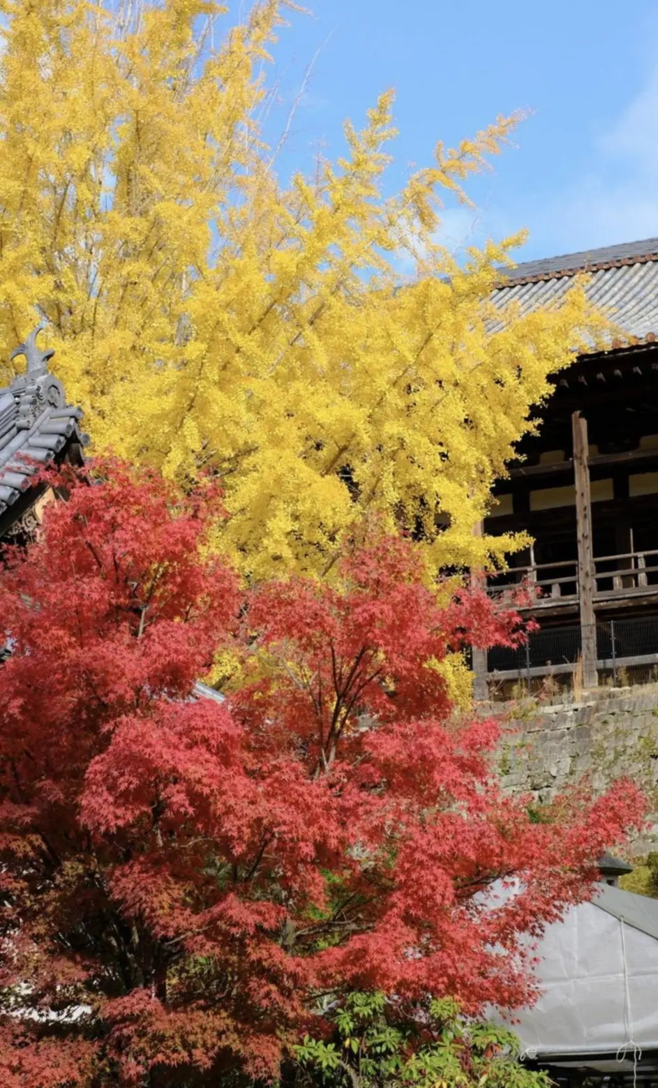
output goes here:
[{"label": "tall weathered wooden post in front of the temple's balcony railing", "polygon": [[587,420],[580,411],[571,417],[573,472],[575,477],[575,524],[578,534],[578,580],[583,647],[583,687],[596,688],[596,618],[594,615],[594,551],[592,544],[592,498],[587,466]]}]

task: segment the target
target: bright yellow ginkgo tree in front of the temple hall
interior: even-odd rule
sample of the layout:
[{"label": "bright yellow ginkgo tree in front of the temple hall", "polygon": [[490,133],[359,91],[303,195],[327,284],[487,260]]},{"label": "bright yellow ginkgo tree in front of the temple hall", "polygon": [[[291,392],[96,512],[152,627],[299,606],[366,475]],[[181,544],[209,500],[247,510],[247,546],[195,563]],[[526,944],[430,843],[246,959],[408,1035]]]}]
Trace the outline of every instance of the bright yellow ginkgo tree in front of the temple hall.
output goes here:
[{"label": "bright yellow ginkgo tree in front of the temple hall", "polygon": [[496,311],[518,238],[461,267],[436,243],[438,195],[513,118],[385,197],[386,94],[343,159],[277,177],[258,119],[288,7],[218,46],[210,0],[0,0],[0,344],[40,314],[95,449],[220,473],[246,573],[326,573],[370,514],[432,568],[482,564],[509,546],[472,532],[492,483],[598,319],[578,285]]}]

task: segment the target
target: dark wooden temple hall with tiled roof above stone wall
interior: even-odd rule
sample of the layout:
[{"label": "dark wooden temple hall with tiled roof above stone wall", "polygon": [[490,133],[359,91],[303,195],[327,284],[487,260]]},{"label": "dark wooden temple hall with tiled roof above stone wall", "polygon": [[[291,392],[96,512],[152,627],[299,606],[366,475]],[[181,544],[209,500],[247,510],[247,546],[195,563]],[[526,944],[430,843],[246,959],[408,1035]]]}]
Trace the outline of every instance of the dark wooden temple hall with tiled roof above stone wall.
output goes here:
[{"label": "dark wooden temple hall with tiled roof above stone wall", "polygon": [[538,434],[496,487],[486,531],[534,544],[489,592],[527,580],[539,630],[480,663],[481,697],[485,668],[489,693],[547,676],[585,689],[658,677],[658,238],[520,264],[494,299],[559,302],[579,272],[621,334],[553,376]]}]

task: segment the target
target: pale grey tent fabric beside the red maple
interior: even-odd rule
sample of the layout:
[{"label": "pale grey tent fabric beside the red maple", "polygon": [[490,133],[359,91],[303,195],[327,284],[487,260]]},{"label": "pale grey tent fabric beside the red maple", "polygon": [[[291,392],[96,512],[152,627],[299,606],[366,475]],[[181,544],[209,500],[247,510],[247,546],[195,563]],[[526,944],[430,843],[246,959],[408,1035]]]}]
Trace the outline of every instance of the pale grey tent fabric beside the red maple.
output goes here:
[{"label": "pale grey tent fabric beside the red maple", "polygon": [[658,1050],[658,902],[599,886],[536,949],[542,997],[514,1013],[529,1059]]}]

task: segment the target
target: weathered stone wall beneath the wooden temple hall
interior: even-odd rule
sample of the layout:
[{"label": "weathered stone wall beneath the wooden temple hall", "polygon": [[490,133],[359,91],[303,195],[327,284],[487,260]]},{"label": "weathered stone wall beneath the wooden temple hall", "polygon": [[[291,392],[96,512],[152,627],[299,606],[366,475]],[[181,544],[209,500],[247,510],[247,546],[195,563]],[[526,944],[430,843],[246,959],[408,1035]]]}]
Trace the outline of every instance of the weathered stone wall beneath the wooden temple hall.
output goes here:
[{"label": "weathered stone wall beneath the wooden temple hall", "polygon": [[[499,767],[513,793],[550,801],[583,775],[594,793],[630,776],[646,792],[658,842],[658,684],[600,688],[571,702],[489,705],[509,724]],[[655,845],[654,845],[655,849]]]}]

